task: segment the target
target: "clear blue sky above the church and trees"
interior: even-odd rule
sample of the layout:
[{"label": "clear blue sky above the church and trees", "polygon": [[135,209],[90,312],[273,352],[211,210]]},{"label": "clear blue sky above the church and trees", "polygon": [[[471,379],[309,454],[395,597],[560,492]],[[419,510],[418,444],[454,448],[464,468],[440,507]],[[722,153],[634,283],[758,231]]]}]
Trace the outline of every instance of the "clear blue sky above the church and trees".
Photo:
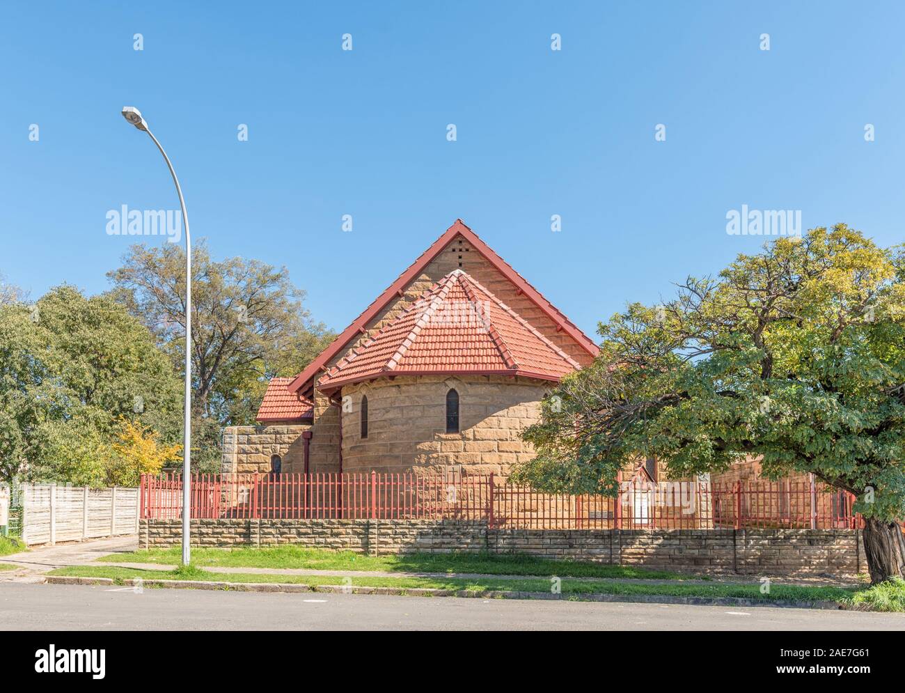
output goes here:
[{"label": "clear blue sky above the church and trees", "polygon": [[590,334],[755,250],[742,205],[905,240],[901,4],[195,5],[0,6],[0,273],[33,298],[108,288],[108,210],[178,207],[124,105],[195,236],[334,329],[456,217]]}]

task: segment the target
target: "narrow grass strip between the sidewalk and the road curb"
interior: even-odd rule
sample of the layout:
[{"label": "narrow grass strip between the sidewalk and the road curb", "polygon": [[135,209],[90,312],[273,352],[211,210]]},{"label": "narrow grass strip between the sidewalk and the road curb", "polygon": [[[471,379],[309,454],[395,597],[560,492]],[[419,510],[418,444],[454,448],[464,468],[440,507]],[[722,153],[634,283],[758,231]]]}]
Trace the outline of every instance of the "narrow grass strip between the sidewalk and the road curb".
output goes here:
[{"label": "narrow grass strip between the sidewalk and the road curb", "polygon": [[[329,575],[274,575],[249,573],[207,573],[194,566],[187,570],[157,571],[136,568],[119,568],[108,566],[74,566],[61,568],[49,573],[51,575],[77,575],[81,577],[109,577],[117,581],[129,578],[145,580],[206,580],[214,582],[284,582],[294,584],[343,584],[343,578]],[[545,579],[500,580],[492,576],[486,578],[464,580],[458,578],[399,578],[356,577],[347,584],[369,587],[413,588],[427,587],[445,590],[486,591],[518,591],[549,592],[551,582]],[[605,582],[595,579],[563,580],[561,590],[566,597],[579,597],[582,594],[647,594],[687,597],[744,597],[758,602],[796,601],[796,602],[854,602],[866,590],[843,589],[839,587],[799,587],[773,583],[769,594],[760,593],[759,584],[682,584],[681,582],[658,583],[626,583]],[[905,594],[905,590],[903,590]],[[874,604],[876,605],[876,604]]]}]

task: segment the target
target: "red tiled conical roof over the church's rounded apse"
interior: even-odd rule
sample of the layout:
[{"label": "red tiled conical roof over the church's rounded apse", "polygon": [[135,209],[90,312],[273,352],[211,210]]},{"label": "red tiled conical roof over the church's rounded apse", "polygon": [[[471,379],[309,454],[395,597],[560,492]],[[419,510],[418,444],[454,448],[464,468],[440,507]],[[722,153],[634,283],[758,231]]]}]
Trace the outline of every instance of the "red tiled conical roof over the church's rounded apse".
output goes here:
[{"label": "red tiled conical roof over the church's rounded apse", "polygon": [[559,380],[581,366],[469,274],[453,270],[319,380],[387,375],[523,375]]}]

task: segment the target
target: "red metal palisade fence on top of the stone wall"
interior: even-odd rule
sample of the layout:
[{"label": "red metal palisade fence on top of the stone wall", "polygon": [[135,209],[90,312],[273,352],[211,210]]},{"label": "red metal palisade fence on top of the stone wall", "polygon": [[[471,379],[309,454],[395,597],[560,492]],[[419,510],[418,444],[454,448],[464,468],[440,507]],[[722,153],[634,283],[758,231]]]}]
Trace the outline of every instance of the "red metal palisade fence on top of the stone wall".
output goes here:
[{"label": "red metal palisade fence on top of the stone wall", "polygon": [[[181,476],[143,475],[139,499],[143,518],[181,517]],[[195,475],[191,485],[195,519],[460,519],[512,529],[861,527],[853,501],[807,481],[634,480],[618,500],[540,493],[493,475]]]}]

